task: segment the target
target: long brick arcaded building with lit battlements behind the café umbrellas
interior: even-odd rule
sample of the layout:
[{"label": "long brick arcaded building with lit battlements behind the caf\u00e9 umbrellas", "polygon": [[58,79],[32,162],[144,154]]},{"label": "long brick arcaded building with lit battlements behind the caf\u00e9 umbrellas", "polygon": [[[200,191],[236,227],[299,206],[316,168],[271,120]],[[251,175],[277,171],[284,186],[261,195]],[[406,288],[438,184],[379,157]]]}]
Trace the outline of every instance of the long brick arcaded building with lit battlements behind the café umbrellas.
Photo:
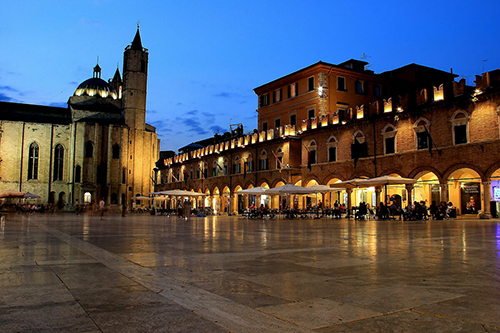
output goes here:
[{"label": "long brick arcaded building with lit battlements behind the caf\u00e9 umbrellas", "polygon": [[253,200],[280,205],[275,196],[238,195],[241,189],[395,175],[417,183],[389,186],[387,193],[336,191],[296,204],[331,206],[351,195],[355,205],[376,205],[382,193],[403,206],[452,201],[459,214],[496,210],[499,71],[477,76],[471,87],[453,73],[416,64],[380,74],[365,65],[319,62],[256,88],[258,130],[232,131],[158,161],[156,190],[203,192],[197,206],[235,213]]}]

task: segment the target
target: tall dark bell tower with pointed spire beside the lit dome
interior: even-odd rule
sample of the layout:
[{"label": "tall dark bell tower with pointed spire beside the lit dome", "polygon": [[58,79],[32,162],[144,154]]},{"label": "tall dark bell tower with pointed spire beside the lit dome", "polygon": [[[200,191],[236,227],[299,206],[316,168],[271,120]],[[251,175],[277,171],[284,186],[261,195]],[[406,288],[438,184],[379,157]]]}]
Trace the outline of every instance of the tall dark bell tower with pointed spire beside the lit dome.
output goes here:
[{"label": "tall dark bell tower with pointed spire beside the lit dome", "polygon": [[146,91],[148,50],[142,47],[139,25],[134,41],[123,55],[123,98],[125,122],[131,130],[144,130],[146,124]]}]

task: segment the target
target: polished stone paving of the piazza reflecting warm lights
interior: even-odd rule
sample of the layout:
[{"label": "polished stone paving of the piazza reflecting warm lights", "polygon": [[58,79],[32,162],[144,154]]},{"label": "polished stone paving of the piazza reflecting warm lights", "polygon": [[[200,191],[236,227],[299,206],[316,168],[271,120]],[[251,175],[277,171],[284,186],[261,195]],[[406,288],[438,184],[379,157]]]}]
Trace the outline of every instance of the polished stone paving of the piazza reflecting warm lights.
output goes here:
[{"label": "polished stone paving of the piazza reflecting warm lights", "polygon": [[0,332],[500,332],[500,223],[8,215]]}]

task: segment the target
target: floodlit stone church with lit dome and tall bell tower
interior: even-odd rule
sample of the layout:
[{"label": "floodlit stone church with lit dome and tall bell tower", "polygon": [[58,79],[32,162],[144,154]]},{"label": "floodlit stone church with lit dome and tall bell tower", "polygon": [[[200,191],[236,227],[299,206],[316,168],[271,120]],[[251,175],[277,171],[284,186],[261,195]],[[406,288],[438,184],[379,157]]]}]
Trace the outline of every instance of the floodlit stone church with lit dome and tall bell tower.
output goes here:
[{"label": "floodlit stone church with lit dome and tall bell tower", "polygon": [[100,198],[119,209],[152,192],[160,142],[146,124],[148,55],[137,28],[123,80],[117,68],[106,82],[97,64],[67,108],[0,102],[0,191],[67,209]]}]

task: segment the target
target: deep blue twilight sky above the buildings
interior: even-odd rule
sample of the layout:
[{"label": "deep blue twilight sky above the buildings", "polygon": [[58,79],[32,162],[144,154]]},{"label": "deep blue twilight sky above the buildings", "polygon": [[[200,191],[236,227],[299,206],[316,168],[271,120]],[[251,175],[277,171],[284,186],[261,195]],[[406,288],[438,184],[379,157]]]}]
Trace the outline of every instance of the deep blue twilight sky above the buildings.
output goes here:
[{"label": "deep blue twilight sky above the buildings", "polygon": [[472,85],[500,68],[499,12],[499,0],[4,1],[0,101],[66,106],[98,56],[103,79],[122,72],[140,20],[147,122],[177,150],[230,123],[254,129],[253,88],[319,60],[453,68]]}]

